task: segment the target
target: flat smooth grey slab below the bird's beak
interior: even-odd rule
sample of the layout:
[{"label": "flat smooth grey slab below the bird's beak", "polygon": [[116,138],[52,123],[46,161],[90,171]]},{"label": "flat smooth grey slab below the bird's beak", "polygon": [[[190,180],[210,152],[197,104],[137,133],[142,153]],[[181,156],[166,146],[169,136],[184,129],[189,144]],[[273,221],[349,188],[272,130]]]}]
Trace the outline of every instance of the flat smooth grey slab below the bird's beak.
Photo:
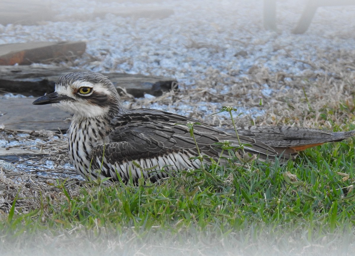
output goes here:
[{"label": "flat smooth grey slab below the bird's beak", "polygon": [[36,98],[0,98],[0,125],[12,130],[66,131],[71,115],[50,104],[33,105]]}]

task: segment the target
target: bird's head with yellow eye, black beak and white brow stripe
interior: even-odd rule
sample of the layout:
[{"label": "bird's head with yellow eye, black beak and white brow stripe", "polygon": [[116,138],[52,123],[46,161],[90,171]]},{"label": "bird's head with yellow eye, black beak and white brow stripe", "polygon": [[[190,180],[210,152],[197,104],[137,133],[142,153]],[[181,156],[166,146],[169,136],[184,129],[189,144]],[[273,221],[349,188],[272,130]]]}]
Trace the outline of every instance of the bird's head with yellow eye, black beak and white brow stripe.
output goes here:
[{"label": "bird's head with yellow eye, black beak and white brow stripe", "polygon": [[75,72],[61,76],[55,91],[36,99],[32,104],[56,103],[66,112],[78,117],[95,118],[123,112],[115,86],[104,75]]}]

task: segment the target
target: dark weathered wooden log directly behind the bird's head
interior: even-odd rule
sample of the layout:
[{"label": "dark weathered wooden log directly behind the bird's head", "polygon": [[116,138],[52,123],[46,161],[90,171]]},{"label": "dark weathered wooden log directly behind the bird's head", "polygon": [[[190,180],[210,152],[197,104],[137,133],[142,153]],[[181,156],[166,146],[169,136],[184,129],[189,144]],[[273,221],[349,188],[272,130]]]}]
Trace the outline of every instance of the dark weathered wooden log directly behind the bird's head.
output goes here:
[{"label": "dark weathered wooden log directly behind the bird's head", "polygon": [[[25,96],[42,96],[54,91],[59,76],[83,69],[70,69],[58,66],[0,66],[0,90],[21,93]],[[176,89],[178,82],[162,76],[142,74],[107,73],[118,91],[124,88],[134,97],[143,97],[144,93],[154,96]]]}]

